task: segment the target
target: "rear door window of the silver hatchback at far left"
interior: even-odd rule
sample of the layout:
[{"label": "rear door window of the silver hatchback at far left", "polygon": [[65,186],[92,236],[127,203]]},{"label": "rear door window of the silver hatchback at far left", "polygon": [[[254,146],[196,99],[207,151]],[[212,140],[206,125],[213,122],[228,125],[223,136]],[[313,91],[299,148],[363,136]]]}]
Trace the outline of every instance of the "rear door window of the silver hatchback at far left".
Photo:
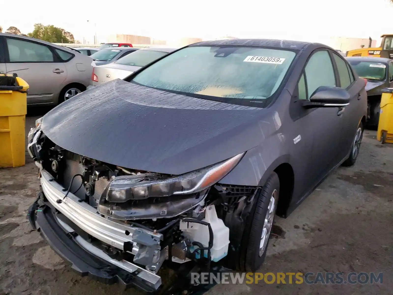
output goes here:
[{"label": "rear door window of the silver hatchback at far left", "polygon": [[6,38],[10,63],[53,62],[53,53],[42,44]]}]

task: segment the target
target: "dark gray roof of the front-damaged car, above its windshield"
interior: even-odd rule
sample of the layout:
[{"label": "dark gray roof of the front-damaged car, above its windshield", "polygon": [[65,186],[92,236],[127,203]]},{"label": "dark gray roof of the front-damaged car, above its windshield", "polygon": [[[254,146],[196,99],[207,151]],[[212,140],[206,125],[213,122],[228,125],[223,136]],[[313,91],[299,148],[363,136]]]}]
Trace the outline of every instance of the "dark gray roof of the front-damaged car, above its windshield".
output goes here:
[{"label": "dark gray roof of the front-damaged car, above its windshield", "polygon": [[277,47],[284,49],[300,50],[311,42],[290,41],[290,40],[276,40],[276,39],[226,39],[214,41],[202,41],[191,44],[189,46],[217,46],[217,45],[241,45],[241,46],[262,46],[262,47]]}]

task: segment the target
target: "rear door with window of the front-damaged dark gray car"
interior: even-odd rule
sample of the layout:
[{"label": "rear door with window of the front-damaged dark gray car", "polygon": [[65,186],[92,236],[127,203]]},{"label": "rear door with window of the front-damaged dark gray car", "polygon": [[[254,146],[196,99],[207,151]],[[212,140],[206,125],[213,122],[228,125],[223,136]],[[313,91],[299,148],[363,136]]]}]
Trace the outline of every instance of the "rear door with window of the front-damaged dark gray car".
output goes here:
[{"label": "rear door with window of the front-damaged dark gray car", "polygon": [[[351,149],[357,127],[362,120],[362,109],[367,105],[367,94],[364,81],[355,81],[351,67],[340,55],[332,52],[338,75],[338,86],[346,89],[351,96],[349,105],[341,108],[342,138],[339,157],[344,159]],[[363,91],[362,91],[363,90]]]}]

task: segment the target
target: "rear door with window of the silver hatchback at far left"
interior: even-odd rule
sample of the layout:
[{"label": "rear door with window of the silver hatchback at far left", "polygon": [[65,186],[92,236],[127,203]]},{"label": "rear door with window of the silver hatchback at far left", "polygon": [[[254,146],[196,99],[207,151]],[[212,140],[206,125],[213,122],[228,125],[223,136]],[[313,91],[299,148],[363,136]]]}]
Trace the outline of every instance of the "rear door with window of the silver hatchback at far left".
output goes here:
[{"label": "rear door with window of the silver hatchback at far left", "polygon": [[57,101],[67,71],[51,46],[17,37],[4,39],[7,72],[29,84],[28,104]]}]

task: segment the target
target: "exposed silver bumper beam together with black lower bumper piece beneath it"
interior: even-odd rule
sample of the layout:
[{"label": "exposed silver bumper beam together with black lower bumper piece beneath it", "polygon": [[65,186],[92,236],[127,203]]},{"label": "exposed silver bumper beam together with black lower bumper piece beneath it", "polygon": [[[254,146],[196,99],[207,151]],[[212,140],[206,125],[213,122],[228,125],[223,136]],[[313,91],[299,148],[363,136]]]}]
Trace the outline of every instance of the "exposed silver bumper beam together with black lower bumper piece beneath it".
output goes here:
[{"label": "exposed silver bumper beam together with black lower bumper piece beneath it", "polygon": [[162,234],[103,218],[92,206],[80,202],[71,193],[57,203],[57,199],[64,197],[63,187],[44,170],[41,170],[40,181],[42,193],[30,207],[28,217],[33,227],[64,260],[72,264],[73,269],[107,284],[121,282],[126,287],[135,285],[148,292],[158,290],[162,284],[160,276],[127,260],[111,258],[86,237],[90,235],[117,249],[129,251],[135,257],[155,251],[158,260],[162,260]]}]

